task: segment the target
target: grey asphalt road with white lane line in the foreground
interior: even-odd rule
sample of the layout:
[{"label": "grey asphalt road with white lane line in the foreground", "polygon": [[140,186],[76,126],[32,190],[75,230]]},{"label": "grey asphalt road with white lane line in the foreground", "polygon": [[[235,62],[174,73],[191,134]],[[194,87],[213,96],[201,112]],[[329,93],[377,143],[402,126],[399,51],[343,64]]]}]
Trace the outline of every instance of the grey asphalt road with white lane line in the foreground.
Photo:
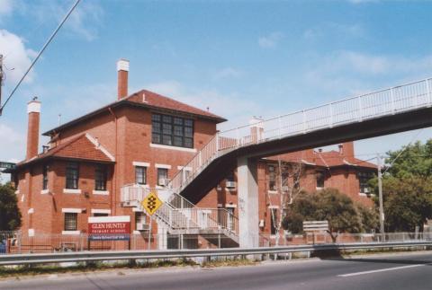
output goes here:
[{"label": "grey asphalt road with white lane line in the foreground", "polygon": [[0,289],[432,289],[432,252],[266,263],[228,268],[139,270],[0,282]]}]

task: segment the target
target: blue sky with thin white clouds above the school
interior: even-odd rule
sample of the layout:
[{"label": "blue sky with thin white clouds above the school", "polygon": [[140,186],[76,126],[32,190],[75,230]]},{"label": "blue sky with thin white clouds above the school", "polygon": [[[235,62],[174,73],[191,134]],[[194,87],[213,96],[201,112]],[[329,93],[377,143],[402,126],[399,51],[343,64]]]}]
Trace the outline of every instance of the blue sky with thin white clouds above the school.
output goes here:
[{"label": "blue sky with thin white clouds above the school", "polygon": [[[74,2],[0,0],[4,98]],[[229,119],[220,129],[432,77],[430,11],[430,1],[82,0],[5,107],[0,161],[23,160],[31,97],[41,133],[115,101],[121,57],[130,92],[209,107]],[[431,133],[356,141],[356,154]]]}]

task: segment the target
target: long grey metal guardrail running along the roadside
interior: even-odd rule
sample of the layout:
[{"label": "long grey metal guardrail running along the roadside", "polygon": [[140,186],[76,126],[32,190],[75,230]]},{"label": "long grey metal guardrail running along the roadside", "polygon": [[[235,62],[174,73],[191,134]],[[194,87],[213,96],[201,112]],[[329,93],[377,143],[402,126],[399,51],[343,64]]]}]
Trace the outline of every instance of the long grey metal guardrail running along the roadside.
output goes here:
[{"label": "long grey metal guardrail running along the roadside", "polygon": [[121,251],[84,251],[65,252],[49,254],[15,254],[0,256],[0,266],[44,264],[60,262],[86,262],[98,260],[121,260],[121,259],[172,259],[172,258],[194,258],[194,257],[216,257],[216,256],[238,256],[257,254],[282,254],[299,251],[320,250],[359,250],[359,249],[381,249],[381,248],[407,248],[432,246],[432,242],[354,242],[338,244],[302,245],[302,246],[280,246],[262,247],[250,249],[212,249],[212,250],[121,250]]}]

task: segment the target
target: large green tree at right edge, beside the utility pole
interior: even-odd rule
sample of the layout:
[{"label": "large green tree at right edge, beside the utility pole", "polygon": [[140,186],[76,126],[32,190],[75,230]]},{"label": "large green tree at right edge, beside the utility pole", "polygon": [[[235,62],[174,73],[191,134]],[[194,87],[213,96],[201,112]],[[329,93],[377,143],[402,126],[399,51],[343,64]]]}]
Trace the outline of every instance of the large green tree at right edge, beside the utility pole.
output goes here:
[{"label": "large green tree at right edge, beside the utility pole", "polygon": [[[432,139],[388,152],[383,175],[384,226],[386,232],[420,230],[432,218]],[[378,195],[377,179],[370,181]],[[378,198],[374,198],[378,205]]]}]

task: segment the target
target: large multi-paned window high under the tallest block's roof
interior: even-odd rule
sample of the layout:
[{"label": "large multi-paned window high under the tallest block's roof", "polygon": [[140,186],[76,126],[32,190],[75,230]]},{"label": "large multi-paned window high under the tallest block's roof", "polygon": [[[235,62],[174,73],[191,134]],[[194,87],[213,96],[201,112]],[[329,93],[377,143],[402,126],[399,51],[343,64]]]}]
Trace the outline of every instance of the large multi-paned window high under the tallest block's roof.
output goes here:
[{"label": "large multi-paned window high under the tallest block's roof", "polygon": [[151,142],[193,148],[193,120],[161,114],[151,116]]}]

